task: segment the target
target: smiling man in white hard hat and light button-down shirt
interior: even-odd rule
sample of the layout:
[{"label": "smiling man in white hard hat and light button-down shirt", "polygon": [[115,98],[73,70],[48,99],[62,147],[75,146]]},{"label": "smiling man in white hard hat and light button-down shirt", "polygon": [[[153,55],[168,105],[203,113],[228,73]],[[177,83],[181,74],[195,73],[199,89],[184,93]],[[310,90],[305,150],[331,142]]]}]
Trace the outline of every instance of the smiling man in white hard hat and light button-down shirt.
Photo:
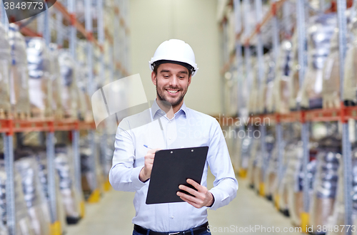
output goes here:
[{"label": "smiling man in white hard hat and light button-down shirt", "polygon": [[[156,101],[148,110],[121,121],[109,181],[116,190],[136,192],[134,235],[210,234],[206,209],[225,206],[238,189],[226,141],[215,118],[183,102],[198,69],[191,46],[177,39],[164,41],[149,63]],[[194,197],[177,192],[185,202],[146,204],[156,150],[200,146],[208,146],[201,185],[188,179],[197,191],[184,185],[177,189]],[[216,177],[211,190],[206,188],[208,166]]]}]

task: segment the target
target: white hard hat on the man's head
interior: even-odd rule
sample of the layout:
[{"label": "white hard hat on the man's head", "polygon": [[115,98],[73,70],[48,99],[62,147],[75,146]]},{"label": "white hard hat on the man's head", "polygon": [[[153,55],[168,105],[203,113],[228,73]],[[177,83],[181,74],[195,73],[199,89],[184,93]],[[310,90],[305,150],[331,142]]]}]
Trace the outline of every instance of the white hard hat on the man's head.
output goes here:
[{"label": "white hard hat on the man's head", "polygon": [[[195,54],[193,53],[191,46],[178,39],[170,39],[169,41],[164,41],[164,43],[160,44],[155,51],[154,57],[149,61],[151,71],[154,71],[154,68],[157,65],[156,61],[161,61],[161,63],[183,63],[181,65],[186,68],[191,66],[192,76],[196,75],[198,70]],[[186,64],[189,66],[186,66]]]}]

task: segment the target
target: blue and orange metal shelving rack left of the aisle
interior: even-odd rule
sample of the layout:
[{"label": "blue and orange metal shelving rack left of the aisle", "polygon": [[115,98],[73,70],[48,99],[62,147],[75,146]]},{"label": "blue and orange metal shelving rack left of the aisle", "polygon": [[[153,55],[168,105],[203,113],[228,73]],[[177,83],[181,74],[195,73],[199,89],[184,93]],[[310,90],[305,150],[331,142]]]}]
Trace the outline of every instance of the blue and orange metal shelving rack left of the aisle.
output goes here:
[{"label": "blue and orange metal shelving rack left of the aisle", "polygon": [[[53,0],[49,0],[53,1]],[[71,51],[71,56],[76,59],[76,39],[77,32],[81,33],[87,40],[87,58],[88,58],[88,71],[89,71],[89,94],[94,93],[96,87],[94,86],[94,65],[93,65],[93,47],[96,46],[101,51],[101,56],[99,58],[100,71],[99,75],[101,78],[105,78],[105,70],[109,69],[110,76],[106,79],[106,83],[114,81],[114,78],[121,78],[122,76],[129,75],[129,63],[127,53],[129,51],[129,21],[128,19],[128,0],[114,1],[114,21],[119,21],[119,25],[114,28],[114,32],[118,29],[122,32],[121,43],[116,41],[115,35],[110,33],[109,28],[104,27],[104,14],[103,14],[103,0],[84,0],[86,10],[85,10],[85,26],[79,22],[76,18],[76,1],[67,0],[66,5],[62,4],[63,1],[56,1],[54,5],[44,11],[43,13],[43,23],[44,31],[37,32],[27,28],[26,26],[21,26],[21,23],[17,23],[21,26],[21,33],[24,36],[41,36],[46,39],[47,46],[51,43],[51,15],[56,14],[59,16],[57,22],[55,23],[54,30],[57,32],[56,43],[63,45],[64,42],[64,26],[62,25],[62,19],[69,22],[69,49]],[[96,9],[98,11],[97,18],[97,38],[94,38],[93,27],[92,27],[92,16],[91,7],[93,2],[96,4]],[[7,21],[4,4],[0,4],[0,15],[1,23],[4,24],[6,28],[9,26]],[[36,17],[36,16],[33,16]],[[104,61],[104,43],[109,42],[109,56],[112,61],[109,64],[105,64]],[[113,53],[113,51],[119,49],[119,53],[124,53],[125,55],[118,55]],[[118,53],[118,51],[116,51]],[[118,58],[116,60],[116,58]],[[79,155],[79,131],[87,130],[89,132],[91,147],[94,145],[94,133],[96,130],[96,125],[94,122],[84,122],[76,119],[63,119],[56,120],[54,118],[42,118],[34,119],[30,118],[28,120],[16,120],[16,119],[4,119],[0,120],[0,132],[3,135],[4,140],[4,162],[6,169],[6,211],[7,211],[7,226],[9,229],[9,235],[16,234],[16,216],[15,216],[15,202],[14,202],[14,146],[13,137],[16,132],[46,132],[46,153],[47,153],[47,167],[48,167],[48,182],[49,182],[49,204],[50,204],[50,216],[51,216],[51,235],[61,234],[61,224],[59,224],[59,218],[56,218],[56,187],[55,187],[55,166],[54,166],[54,132],[56,131],[70,131],[72,133],[72,147],[74,152],[74,168],[75,168],[75,187],[81,190],[81,166],[80,166],[80,155]],[[106,128],[102,133],[101,138],[109,137],[106,135]],[[105,142],[105,141],[104,141]],[[96,162],[94,160],[93,149],[92,162],[95,169]],[[98,188],[98,187],[97,187]],[[108,182],[106,182],[106,189],[109,188]],[[99,201],[99,190],[96,189],[94,193],[89,198],[89,202]],[[84,216],[84,202],[81,203],[81,216]]]}]

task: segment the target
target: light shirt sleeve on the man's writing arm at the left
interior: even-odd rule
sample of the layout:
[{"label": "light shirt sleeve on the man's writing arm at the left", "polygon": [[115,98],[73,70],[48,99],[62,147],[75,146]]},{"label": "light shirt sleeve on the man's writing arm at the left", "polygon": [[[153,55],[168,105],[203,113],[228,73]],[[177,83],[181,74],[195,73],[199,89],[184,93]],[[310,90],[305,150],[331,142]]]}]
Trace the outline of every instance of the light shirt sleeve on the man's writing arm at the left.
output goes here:
[{"label": "light shirt sleeve on the man's writing arm at the left", "polygon": [[143,167],[134,167],[134,142],[129,133],[129,128],[119,125],[114,143],[113,166],[109,172],[109,182],[115,190],[135,192],[148,182],[141,182],[139,179],[139,173]]}]

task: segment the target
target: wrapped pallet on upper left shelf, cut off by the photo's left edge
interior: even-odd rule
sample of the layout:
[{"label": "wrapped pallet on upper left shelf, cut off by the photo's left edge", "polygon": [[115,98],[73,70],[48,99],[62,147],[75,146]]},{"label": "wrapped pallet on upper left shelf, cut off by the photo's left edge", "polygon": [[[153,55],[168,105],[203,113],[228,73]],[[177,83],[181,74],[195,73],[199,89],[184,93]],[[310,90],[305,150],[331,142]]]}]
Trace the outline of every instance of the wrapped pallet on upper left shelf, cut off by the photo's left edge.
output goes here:
[{"label": "wrapped pallet on upper left shelf, cut off by the photo's left edge", "polygon": [[0,23],[0,119],[11,112],[10,105],[11,48],[4,26]]}]

